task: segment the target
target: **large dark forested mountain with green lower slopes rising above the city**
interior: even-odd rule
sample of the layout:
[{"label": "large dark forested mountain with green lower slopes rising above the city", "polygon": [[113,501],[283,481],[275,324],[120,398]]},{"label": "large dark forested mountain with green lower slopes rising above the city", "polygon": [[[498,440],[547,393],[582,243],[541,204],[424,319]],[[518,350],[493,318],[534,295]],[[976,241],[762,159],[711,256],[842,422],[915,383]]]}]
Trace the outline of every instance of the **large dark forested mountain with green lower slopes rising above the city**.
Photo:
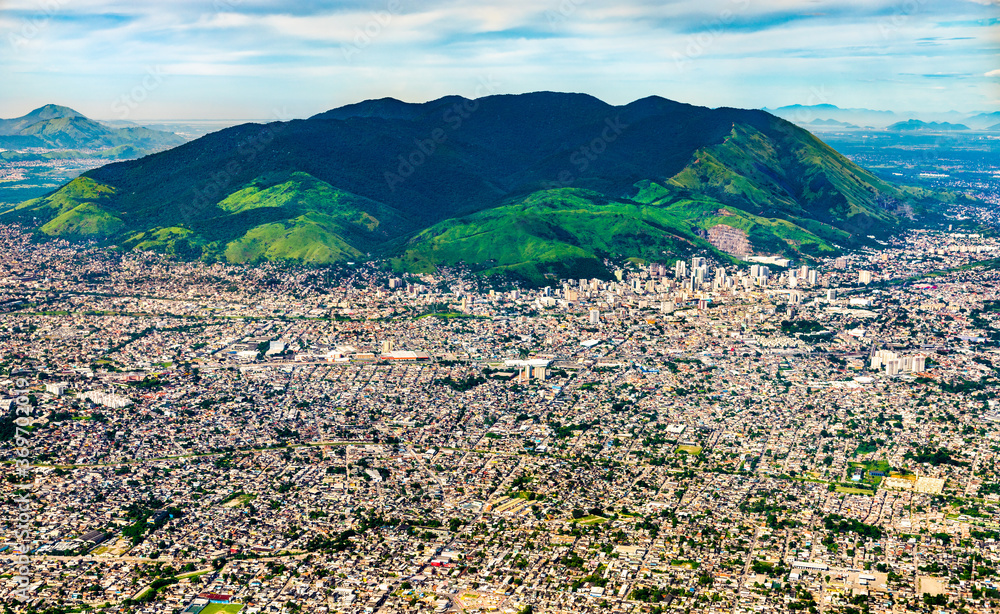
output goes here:
[{"label": "large dark forested mountain with green lower slopes rising above the city", "polygon": [[607,258],[724,256],[708,241],[720,225],[755,253],[832,255],[929,202],[764,111],[537,92],[235,126],[88,171],[0,222],[182,258],[371,254],[539,282],[606,275]]}]

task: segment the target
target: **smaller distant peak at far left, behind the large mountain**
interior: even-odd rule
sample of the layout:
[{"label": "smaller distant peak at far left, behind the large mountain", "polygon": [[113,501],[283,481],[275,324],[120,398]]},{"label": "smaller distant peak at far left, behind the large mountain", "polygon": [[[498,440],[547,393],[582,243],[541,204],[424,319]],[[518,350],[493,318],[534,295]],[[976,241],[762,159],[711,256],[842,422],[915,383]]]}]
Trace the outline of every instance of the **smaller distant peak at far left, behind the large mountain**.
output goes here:
[{"label": "smaller distant peak at far left, behind the large mountain", "polygon": [[68,150],[119,148],[110,157],[135,158],[176,147],[176,134],[139,126],[114,128],[84,117],[68,107],[48,104],[14,119],[0,119],[0,147],[42,147]]}]

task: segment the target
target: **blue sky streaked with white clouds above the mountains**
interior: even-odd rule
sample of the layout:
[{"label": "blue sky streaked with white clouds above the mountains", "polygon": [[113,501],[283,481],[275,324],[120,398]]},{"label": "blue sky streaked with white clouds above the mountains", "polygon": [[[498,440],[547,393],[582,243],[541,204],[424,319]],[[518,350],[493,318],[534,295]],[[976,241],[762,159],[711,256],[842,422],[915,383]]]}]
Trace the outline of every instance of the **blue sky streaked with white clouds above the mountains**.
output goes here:
[{"label": "blue sky streaked with white clouds above the mountains", "polygon": [[0,0],[0,117],[291,119],[368,98],[1000,109],[1000,0]]}]

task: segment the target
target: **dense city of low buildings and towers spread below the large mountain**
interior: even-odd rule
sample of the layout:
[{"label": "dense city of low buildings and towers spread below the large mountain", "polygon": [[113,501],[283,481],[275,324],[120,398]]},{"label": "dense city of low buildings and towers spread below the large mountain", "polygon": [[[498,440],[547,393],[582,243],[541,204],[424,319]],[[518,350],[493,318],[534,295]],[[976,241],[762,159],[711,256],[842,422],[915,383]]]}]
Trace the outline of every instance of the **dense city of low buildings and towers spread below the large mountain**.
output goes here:
[{"label": "dense city of low buildings and towers spread below the large mountain", "polygon": [[3,598],[996,612],[998,256],[912,231],[496,290],[0,227]]}]

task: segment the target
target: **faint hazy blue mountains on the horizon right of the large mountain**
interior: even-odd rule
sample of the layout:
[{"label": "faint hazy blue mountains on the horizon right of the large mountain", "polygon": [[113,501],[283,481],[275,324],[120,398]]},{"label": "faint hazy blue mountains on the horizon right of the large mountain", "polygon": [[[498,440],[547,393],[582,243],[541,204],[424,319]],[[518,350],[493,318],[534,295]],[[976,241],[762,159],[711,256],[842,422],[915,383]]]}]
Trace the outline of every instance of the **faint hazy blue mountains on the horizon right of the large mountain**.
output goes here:
[{"label": "faint hazy blue mountains on the horizon right of the large mountain", "polygon": [[[996,130],[1000,122],[1000,111],[992,113],[961,113],[948,111],[945,113],[928,113],[916,111],[877,111],[874,109],[842,109],[832,104],[800,105],[794,104],[777,109],[764,109],[769,113],[787,119],[799,126],[824,127],[868,127],[888,128],[909,120],[928,124],[964,125],[964,128],[952,130]],[[837,122],[830,124],[830,121]],[[941,128],[948,129],[948,128]]]}]

